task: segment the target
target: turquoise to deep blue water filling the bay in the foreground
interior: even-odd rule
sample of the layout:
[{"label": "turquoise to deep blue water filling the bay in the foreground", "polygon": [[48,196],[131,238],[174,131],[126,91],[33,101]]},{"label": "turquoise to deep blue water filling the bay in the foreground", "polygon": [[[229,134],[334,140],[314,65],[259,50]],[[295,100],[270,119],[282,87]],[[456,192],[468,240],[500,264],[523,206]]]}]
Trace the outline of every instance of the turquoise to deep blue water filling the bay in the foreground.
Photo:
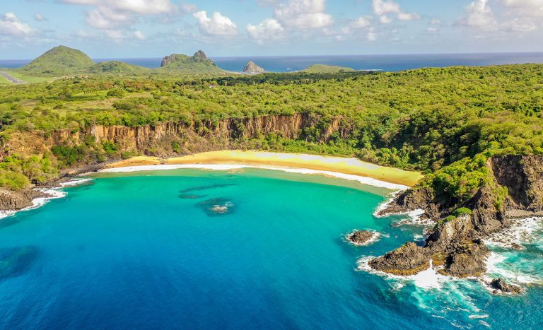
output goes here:
[{"label": "turquoise to deep blue water filling the bay in the foreground", "polygon": [[[399,216],[372,216],[384,189],[264,170],[172,170],[103,175],[65,191],[0,221],[1,329],[541,325],[537,285],[496,297],[477,281],[419,288],[358,270],[361,257],[422,232],[397,225]],[[210,211],[216,205],[226,213]],[[341,237],[354,228],[382,237],[354,247]],[[536,262],[540,252],[532,244],[525,253]]]}]

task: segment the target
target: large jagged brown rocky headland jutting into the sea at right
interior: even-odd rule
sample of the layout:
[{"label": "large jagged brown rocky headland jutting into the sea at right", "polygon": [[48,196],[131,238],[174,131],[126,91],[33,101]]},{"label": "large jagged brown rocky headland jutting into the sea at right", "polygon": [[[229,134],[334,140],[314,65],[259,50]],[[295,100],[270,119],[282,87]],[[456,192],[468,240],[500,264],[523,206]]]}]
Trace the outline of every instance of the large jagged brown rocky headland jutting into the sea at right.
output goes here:
[{"label": "large jagged brown rocky headland jutting into the sea at right", "polygon": [[[433,259],[434,265],[443,266],[439,271],[446,275],[467,277],[484,273],[489,249],[481,237],[508,228],[512,218],[543,214],[543,156],[494,156],[486,166],[494,181],[487,182],[462,204],[436,196],[429,187],[399,194],[382,214],[421,208],[428,218],[436,221],[436,226],[424,248],[399,247],[370,261],[370,266],[390,273],[414,273],[421,271],[426,257]],[[469,208],[472,214],[451,217],[452,211],[460,207]]]}]

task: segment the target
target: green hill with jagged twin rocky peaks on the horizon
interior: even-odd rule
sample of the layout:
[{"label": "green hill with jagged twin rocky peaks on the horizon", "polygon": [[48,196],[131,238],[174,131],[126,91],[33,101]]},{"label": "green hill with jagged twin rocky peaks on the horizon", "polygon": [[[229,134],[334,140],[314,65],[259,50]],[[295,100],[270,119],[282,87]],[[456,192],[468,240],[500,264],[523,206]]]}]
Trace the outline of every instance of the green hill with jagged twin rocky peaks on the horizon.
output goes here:
[{"label": "green hill with jagged twin rocky peaks on the horizon", "polygon": [[175,71],[177,73],[224,73],[214,61],[208,59],[206,54],[199,50],[192,57],[185,54],[172,54],[164,57],[160,64],[160,71]]}]

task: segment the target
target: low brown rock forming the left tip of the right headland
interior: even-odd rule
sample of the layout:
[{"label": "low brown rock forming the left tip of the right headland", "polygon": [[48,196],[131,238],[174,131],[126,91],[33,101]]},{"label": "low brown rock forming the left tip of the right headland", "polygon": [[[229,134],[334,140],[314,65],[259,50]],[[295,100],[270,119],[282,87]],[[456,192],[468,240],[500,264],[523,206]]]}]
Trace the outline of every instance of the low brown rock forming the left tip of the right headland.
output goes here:
[{"label": "low brown rock forming the left tip of the right headland", "polygon": [[395,275],[414,275],[430,266],[430,250],[409,242],[369,262],[371,268]]}]

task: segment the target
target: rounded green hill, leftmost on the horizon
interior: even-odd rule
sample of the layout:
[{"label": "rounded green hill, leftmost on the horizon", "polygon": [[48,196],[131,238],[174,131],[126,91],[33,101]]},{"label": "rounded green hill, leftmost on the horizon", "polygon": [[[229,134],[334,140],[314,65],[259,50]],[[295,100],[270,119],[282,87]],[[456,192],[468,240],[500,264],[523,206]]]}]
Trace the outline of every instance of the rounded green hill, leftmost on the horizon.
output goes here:
[{"label": "rounded green hill, leftmost on the horizon", "polygon": [[27,76],[54,77],[86,73],[93,65],[91,57],[80,50],[58,46],[16,71]]}]

